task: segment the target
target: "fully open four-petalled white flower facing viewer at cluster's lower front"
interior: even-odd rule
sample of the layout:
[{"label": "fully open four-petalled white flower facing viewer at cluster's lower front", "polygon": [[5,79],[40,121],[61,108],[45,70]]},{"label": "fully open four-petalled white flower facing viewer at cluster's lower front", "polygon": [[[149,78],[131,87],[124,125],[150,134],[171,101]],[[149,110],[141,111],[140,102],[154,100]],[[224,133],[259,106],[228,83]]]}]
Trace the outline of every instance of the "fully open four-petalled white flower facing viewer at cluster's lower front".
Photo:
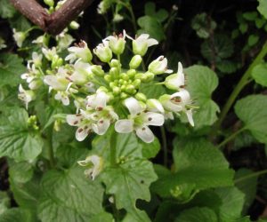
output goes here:
[{"label": "fully open four-petalled white flower facing viewer at cluster's lower front", "polygon": [[125,107],[130,112],[129,119],[118,120],[115,130],[119,133],[135,131],[136,135],[146,143],[154,140],[154,134],[149,125],[160,126],[164,123],[164,116],[154,112],[145,112],[138,100],[134,98],[125,99]]}]

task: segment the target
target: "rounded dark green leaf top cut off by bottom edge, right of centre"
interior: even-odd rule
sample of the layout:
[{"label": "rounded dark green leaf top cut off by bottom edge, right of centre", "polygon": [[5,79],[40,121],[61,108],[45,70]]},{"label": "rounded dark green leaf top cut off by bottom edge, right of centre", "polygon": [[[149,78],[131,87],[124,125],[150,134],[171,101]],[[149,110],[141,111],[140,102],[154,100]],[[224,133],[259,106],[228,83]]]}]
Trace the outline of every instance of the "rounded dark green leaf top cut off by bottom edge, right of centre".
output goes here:
[{"label": "rounded dark green leaf top cut off by bottom edge, right of centre", "polygon": [[174,220],[174,222],[217,222],[218,218],[213,210],[203,208],[191,208],[183,210],[182,213]]}]

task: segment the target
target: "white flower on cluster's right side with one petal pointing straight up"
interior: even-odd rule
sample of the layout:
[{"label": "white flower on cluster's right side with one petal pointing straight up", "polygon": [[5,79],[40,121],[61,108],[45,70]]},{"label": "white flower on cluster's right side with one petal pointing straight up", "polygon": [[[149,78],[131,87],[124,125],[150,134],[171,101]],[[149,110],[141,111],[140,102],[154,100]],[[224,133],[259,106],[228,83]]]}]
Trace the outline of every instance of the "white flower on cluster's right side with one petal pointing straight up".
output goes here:
[{"label": "white flower on cluster's right side with one petal pointing straight up", "polygon": [[184,74],[182,72],[182,63],[178,62],[178,71],[176,74],[166,77],[164,82],[166,87],[170,90],[179,90],[184,85]]}]

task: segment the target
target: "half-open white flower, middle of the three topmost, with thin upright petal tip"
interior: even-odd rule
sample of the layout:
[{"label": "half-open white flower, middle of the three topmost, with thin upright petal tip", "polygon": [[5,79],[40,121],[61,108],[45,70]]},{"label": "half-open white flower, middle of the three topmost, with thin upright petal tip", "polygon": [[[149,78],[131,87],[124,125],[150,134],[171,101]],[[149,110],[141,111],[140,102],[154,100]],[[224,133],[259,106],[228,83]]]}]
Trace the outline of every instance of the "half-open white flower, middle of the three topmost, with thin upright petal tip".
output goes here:
[{"label": "half-open white flower, middle of the three topmost, with thin upright petal tip", "polygon": [[124,52],[125,50],[125,30],[123,32],[123,35],[115,35],[115,36],[108,36],[106,37],[103,41],[109,41],[109,47],[112,50],[112,52],[114,52],[117,55],[120,55],[121,53]]}]

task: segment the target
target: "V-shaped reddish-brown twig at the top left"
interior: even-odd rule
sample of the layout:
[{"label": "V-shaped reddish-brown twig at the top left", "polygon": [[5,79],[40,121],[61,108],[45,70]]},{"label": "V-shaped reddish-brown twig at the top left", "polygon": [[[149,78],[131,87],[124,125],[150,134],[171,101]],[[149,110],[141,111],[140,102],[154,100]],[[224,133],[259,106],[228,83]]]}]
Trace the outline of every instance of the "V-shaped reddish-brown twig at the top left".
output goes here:
[{"label": "V-shaped reddish-brown twig at the top left", "polygon": [[14,7],[44,32],[58,35],[71,20],[93,3],[93,0],[68,0],[59,10],[48,14],[35,0],[10,0]]}]

